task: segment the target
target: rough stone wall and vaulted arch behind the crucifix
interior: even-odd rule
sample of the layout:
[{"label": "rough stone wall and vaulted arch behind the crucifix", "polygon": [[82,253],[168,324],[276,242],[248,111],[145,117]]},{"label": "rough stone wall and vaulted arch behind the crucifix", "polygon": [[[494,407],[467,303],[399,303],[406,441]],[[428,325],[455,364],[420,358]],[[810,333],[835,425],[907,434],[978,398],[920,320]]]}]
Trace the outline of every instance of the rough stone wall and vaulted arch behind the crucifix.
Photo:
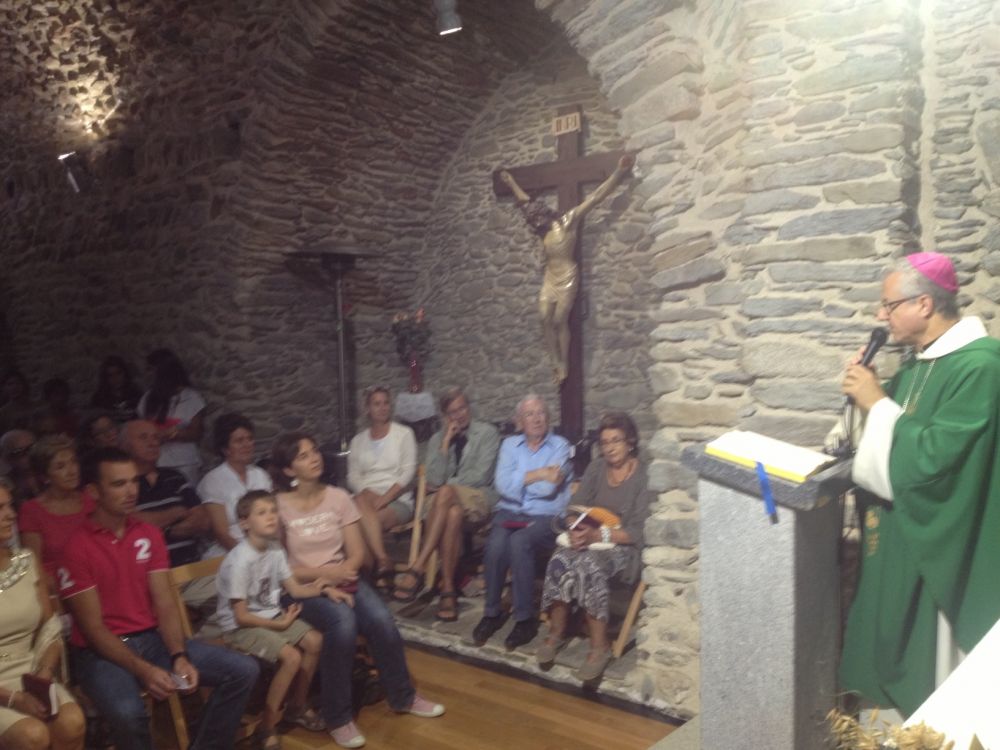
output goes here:
[{"label": "rough stone wall and vaulted arch behind the crucifix", "polygon": [[[735,426],[818,443],[880,268],[905,251],[953,254],[998,333],[1000,10],[533,5],[463,4],[467,30],[444,41],[422,0],[0,0],[0,351],[84,391],[106,352],[172,345],[262,437],[330,438],[329,289],[284,261],[360,250],[374,257],[348,289],[359,384],[402,384],[389,324],[426,303],[429,385],[469,383],[505,417],[524,390],[552,390],[532,238],[488,173],[551,158],[551,110],[582,101],[588,149],[638,156],[585,236],[587,419],[638,414],[659,493],[630,689],[690,716],[683,447]],[[56,160],[74,148],[97,180],[79,195]]]}]

